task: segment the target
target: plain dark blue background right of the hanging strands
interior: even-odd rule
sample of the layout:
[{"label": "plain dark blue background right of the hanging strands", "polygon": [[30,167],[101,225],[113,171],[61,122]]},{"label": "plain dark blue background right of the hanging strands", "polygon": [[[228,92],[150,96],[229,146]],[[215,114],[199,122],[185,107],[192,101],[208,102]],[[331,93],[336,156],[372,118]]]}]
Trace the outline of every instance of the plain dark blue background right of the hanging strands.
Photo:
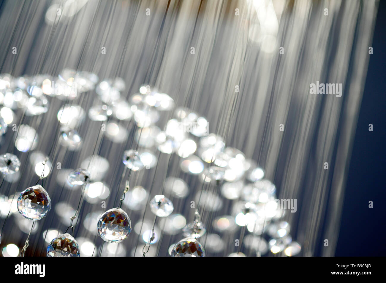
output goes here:
[{"label": "plain dark blue background right of the hanging strands", "polygon": [[[345,191],[335,256],[386,255],[385,21],[381,0]],[[373,124],[373,131],[369,131]],[[369,201],[374,208],[369,208]]]}]

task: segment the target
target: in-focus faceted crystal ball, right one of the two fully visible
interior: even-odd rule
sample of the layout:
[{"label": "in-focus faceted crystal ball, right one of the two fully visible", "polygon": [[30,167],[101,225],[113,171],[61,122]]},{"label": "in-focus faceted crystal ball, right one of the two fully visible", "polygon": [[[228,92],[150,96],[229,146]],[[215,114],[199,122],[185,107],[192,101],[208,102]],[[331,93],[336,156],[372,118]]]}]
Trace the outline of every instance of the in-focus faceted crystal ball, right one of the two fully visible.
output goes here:
[{"label": "in-focus faceted crystal ball, right one of the two fully visible", "polygon": [[108,243],[120,243],[131,232],[131,220],[122,208],[112,208],[98,221],[100,237]]}]

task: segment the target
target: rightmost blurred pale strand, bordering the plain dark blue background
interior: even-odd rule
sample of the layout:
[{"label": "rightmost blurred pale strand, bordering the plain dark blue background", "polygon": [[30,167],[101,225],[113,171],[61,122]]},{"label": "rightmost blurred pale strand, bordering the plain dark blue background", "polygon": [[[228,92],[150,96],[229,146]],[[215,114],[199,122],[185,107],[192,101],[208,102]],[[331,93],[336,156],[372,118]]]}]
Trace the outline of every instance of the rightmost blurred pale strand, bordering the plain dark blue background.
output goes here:
[{"label": "rightmost blurred pale strand, bordering the plain dark blue background", "polygon": [[[343,106],[343,121],[340,124],[334,174],[328,199],[326,227],[323,233],[323,238],[328,239],[330,248],[322,249],[323,256],[334,256],[338,242],[345,184],[364,84],[366,82],[366,73],[370,59],[368,51],[374,35],[378,4],[378,0],[361,1],[361,15],[358,19],[356,31],[355,53],[352,55],[349,84],[346,85],[348,90],[345,92],[347,103]],[[367,54],[367,56],[363,56],[363,53]]]}]

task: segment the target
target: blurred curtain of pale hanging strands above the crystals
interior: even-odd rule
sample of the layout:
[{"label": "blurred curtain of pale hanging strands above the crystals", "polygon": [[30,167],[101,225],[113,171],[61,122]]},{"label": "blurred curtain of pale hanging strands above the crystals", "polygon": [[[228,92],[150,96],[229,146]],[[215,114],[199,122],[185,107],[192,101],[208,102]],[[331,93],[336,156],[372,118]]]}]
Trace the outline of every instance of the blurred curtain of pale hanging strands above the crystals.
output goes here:
[{"label": "blurred curtain of pale hanging strands above the crystals", "polygon": [[[3,11],[9,11],[2,12],[0,19],[10,20],[4,30],[0,29],[0,38],[5,38],[0,40],[0,48],[6,51],[2,71],[15,76],[35,74],[38,70],[58,75],[57,71],[64,67],[79,67],[79,70],[97,73],[100,80],[119,75],[127,84],[121,94],[125,100],[137,92],[142,83],[156,85],[175,100],[176,107],[188,106],[206,116],[210,132],[227,134],[227,146],[237,147],[247,158],[258,161],[266,170],[266,178],[276,184],[281,198],[298,199],[298,213],[288,213],[286,220],[291,229],[297,231],[297,235],[291,232],[294,238],[304,243],[303,255],[315,255],[315,249],[323,245],[320,239],[329,239],[330,243],[323,255],[334,255],[378,1],[289,1],[278,22],[278,46],[271,53],[264,52],[257,36],[253,37],[256,11],[251,2],[244,0],[92,0],[71,20],[53,26],[37,25],[42,22],[49,1],[33,3],[31,11],[25,11],[13,1],[0,4],[0,7],[7,6],[2,7]],[[325,7],[330,9],[329,17],[323,15]],[[151,9],[151,17],[146,16],[146,8]],[[235,8],[240,9],[240,16],[235,17]],[[33,14],[25,17],[26,12]],[[25,22],[12,19],[11,15],[19,13]],[[23,50],[35,56],[23,53],[19,59],[9,56],[10,51],[6,49],[8,45],[12,47],[13,28],[21,37],[19,43],[23,44]],[[22,34],[27,36],[24,38]],[[107,48],[103,55],[102,46]],[[283,55],[278,54],[280,46],[284,47]],[[194,55],[190,53],[191,47],[195,47]],[[15,68],[12,69],[13,60]],[[316,80],[342,82],[343,97],[310,95],[309,85]],[[240,86],[240,93],[235,92],[235,85]],[[82,95],[81,101],[73,100],[69,104],[88,109],[97,103],[95,92]],[[51,100],[45,117],[55,117],[63,103]],[[160,127],[170,115],[172,112],[160,120]],[[39,124],[36,121],[29,118],[25,124],[36,127]],[[56,119],[45,119],[41,127],[51,129],[56,123]],[[284,132],[279,131],[281,123]],[[99,128],[92,121],[80,127],[84,148],[77,153],[60,152],[60,158],[66,159],[66,167],[77,166],[92,154]],[[38,149],[44,151],[52,142],[52,132],[46,130],[38,134],[41,139]],[[130,134],[130,139],[132,136]],[[7,139],[13,142],[9,135]],[[102,146],[104,141],[99,142]],[[120,171],[121,154],[127,146],[112,144],[100,155],[109,158],[112,166],[121,166],[117,170]],[[20,160],[26,163],[27,158],[24,155]],[[165,156],[161,159],[159,162],[166,162]],[[330,164],[328,172],[323,170],[325,161]],[[35,177],[30,166],[22,170],[25,176]],[[154,193],[161,191],[167,171],[181,176],[178,164],[163,166],[154,173],[160,184]],[[120,172],[110,178],[119,179]],[[196,176],[182,178],[189,179],[192,195],[201,187]],[[143,186],[151,181],[144,171],[135,179],[135,184]],[[27,181],[22,179],[20,187],[26,186]],[[121,188],[113,185],[119,182],[105,181],[112,184],[111,195],[120,196]],[[47,185],[53,188],[55,184],[56,179],[50,176]],[[15,186],[12,191],[16,191]],[[70,200],[76,199],[77,196],[68,193],[62,201],[71,203]],[[225,201],[229,206],[232,203]],[[186,213],[186,204],[182,201],[175,204],[176,211]],[[225,213],[230,213],[230,207],[225,209]],[[148,212],[146,215],[153,218]],[[208,214],[209,225],[212,213],[206,212]],[[42,227],[49,228],[48,222],[42,222]]]}]

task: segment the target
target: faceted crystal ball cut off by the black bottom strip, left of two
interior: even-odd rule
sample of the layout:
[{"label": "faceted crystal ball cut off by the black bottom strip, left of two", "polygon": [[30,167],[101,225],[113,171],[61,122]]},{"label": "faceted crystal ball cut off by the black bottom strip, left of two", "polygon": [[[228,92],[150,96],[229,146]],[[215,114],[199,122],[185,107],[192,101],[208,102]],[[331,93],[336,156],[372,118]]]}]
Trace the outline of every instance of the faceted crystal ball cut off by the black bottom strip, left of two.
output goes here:
[{"label": "faceted crystal ball cut off by the black bottom strip, left of two", "polygon": [[47,256],[80,256],[78,242],[70,234],[61,234],[47,246]]}]

